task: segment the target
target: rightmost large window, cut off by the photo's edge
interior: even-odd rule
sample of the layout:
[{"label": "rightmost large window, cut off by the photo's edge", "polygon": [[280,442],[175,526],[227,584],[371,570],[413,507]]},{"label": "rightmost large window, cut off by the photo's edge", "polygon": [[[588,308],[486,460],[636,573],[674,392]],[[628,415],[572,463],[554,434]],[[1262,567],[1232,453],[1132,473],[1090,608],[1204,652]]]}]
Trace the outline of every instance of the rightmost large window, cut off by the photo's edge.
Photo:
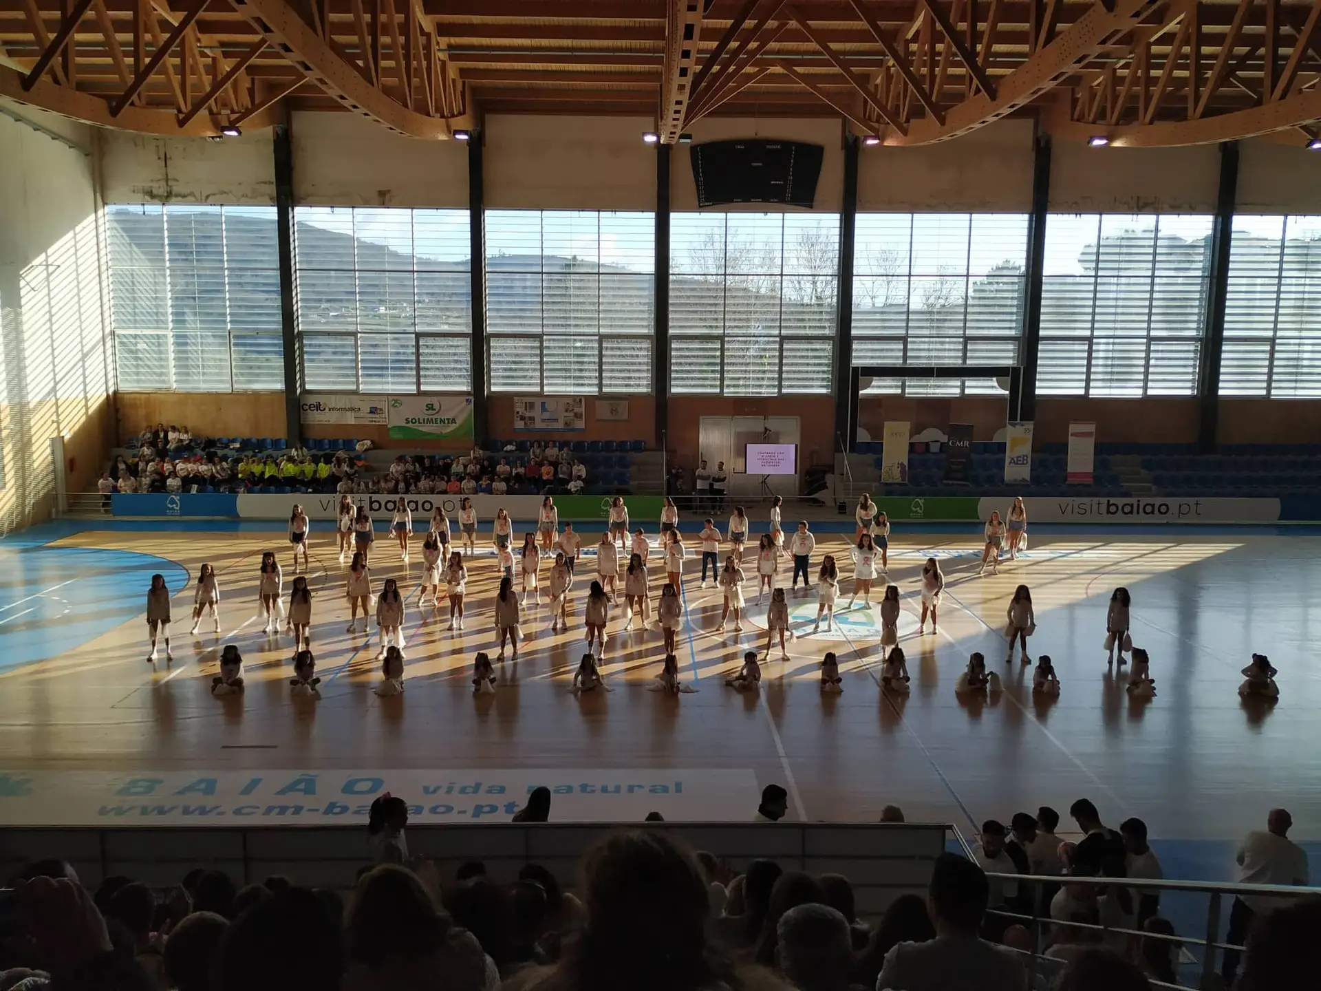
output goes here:
[{"label": "rightmost large window, cut off by the photo's edge", "polygon": [[1235,217],[1221,395],[1321,396],[1321,217]]}]

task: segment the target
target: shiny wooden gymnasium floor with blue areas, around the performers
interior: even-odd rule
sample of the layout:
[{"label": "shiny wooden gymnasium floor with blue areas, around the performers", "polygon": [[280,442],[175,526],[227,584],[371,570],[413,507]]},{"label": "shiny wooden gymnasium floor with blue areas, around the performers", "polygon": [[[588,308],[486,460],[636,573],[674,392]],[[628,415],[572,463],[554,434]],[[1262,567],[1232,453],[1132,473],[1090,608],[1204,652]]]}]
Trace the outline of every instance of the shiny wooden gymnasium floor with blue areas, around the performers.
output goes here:
[{"label": "shiny wooden gymnasium floor with blue areas, around the performers", "polygon": [[[682,768],[709,773],[716,790],[740,782],[725,789],[729,801],[709,807],[717,818],[750,818],[757,789],[781,782],[790,818],[875,821],[893,802],[909,819],[967,828],[1042,803],[1063,814],[1090,797],[1111,825],[1139,815],[1160,838],[1234,838],[1260,827],[1273,805],[1292,810],[1297,838],[1321,838],[1313,659],[1321,539],[1310,531],[1057,529],[1034,534],[1026,556],[999,575],[976,577],[976,532],[897,529],[889,579],[904,599],[906,698],[878,687],[877,620],[857,609],[834,638],[807,636],[816,599],[801,591],[790,596],[801,636],[789,642],[789,659],[771,654],[760,695],[725,687],[742,651],[765,647],[765,606],[756,605],[750,579],[744,633],[721,633],[720,597],[700,588],[700,559],[687,563],[688,622],[678,642],[696,692],[646,690],[659,670],[660,633],[622,630],[617,610],[604,667],[612,691],[576,698],[568,688],[589,558],[579,567],[571,632],[550,633],[546,605],[526,609],[518,663],[501,666],[494,696],[474,699],[473,655],[493,649],[494,559],[470,566],[466,629],[449,633],[444,603],[437,612],[416,606],[420,550],[404,566],[380,539],[374,581],[398,577],[408,596],[407,690],[380,699],[373,694],[375,622],[370,641],[345,632],[342,567],[333,535],[318,525],[312,640],[325,680],[320,702],[309,702],[291,699],[292,637],[266,636],[256,618],[260,552],[277,550],[285,589],[292,580],[284,531],[271,526],[85,521],[0,542],[0,772]],[[827,551],[845,562],[845,539],[818,532],[814,563]],[[929,554],[942,558],[948,584],[939,634],[919,636],[918,569]],[[221,637],[207,620],[201,636],[188,636],[192,581],[203,562],[221,577]],[[143,622],[152,571],[166,573],[176,617],[174,662],[162,651],[155,667],[144,662]],[[841,571],[844,616],[852,568]],[[657,563],[653,596],[663,580]],[[787,583],[787,560],[777,580]],[[1030,653],[1050,654],[1063,684],[1054,702],[1033,699],[1030,669],[1004,662],[1005,606],[1018,583],[1036,603]],[[1133,640],[1152,657],[1159,695],[1149,702],[1129,700],[1106,665],[1106,603],[1120,584],[1133,597]],[[225,642],[243,651],[247,691],[217,699],[210,684]],[[831,649],[844,675],[835,698],[818,688],[818,663]],[[997,699],[955,698],[971,650],[1004,677]],[[1283,698],[1273,707],[1236,694],[1254,650],[1280,669]],[[684,814],[701,818],[700,809]],[[0,801],[0,822],[13,821],[7,815]]]}]

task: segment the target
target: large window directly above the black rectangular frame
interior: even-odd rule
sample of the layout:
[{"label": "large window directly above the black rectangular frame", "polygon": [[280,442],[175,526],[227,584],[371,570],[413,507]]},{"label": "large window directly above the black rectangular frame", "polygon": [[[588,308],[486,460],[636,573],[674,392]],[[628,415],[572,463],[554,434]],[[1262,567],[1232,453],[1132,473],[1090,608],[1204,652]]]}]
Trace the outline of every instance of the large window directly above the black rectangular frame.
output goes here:
[{"label": "large window directly above the black rectangular frame", "polygon": [[[853,365],[1015,365],[1026,214],[857,215]],[[999,392],[995,379],[876,379],[864,392]]]}]

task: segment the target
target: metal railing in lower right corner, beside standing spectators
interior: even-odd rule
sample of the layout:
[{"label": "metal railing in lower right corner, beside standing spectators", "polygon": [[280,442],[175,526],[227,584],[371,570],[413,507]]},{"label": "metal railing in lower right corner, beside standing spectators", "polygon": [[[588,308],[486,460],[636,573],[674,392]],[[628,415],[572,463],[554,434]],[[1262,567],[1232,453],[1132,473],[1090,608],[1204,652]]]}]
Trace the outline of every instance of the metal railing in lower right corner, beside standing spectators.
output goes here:
[{"label": "metal railing in lower right corner, beside standing spectators", "polygon": [[[959,839],[962,842],[962,836]],[[1030,913],[1024,914],[1007,909],[991,909],[987,913],[1007,922],[1007,925],[1021,925],[1032,936],[1032,950],[1018,950],[1018,953],[1028,958],[1026,965],[1032,975],[1030,987],[1038,986],[1041,978],[1050,978],[1054,971],[1065,966],[1066,959],[1063,957],[1052,957],[1049,951],[1053,946],[1058,945],[1058,934],[1061,932],[1074,930],[1089,934],[1091,942],[1082,945],[1108,945],[1112,947],[1118,945],[1118,947],[1136,951],[1143,941],[1173,943],[1177,947],[1173,965],[1176,983],[1152,979],[1152,987],[1172,988],[1174,991],[1219,991],[1225,984],[1221,980],[1217,965],[1223,965],[1223,954],[1226,951],[1239,954],[1243,951],[1242,943],[1231,943],[1227,942],[1227,937],[1221,937],[1222,921],[1227,921],[1229,906],[1234,899],[1246,895],[1248,897],[1271,896],[1296,900],[1321,895],[1321,888],[1281,887],[1273,884],[1151,881],[1139,877],[1075,877],[1071,875],[1044,877],[1041,875],[1015,873],[991,873],[987,877],[992,884],[992,889],[999,885],[1016,884],[1026,885],[1032,892]],[[1050,905],[1045,902],[1042,895],[1052,889],[1058,889],[1061,885],[1085,888],[1089,892],[1106,888],[1125,888],[1133,895],[1135,917],[1137,912],[1136,902],[1141,900],[1143,893],[1156,896],[1172,895],[1180,901],[1177,914],[1186,917],[1194,910],[1202,914],[1202,924],[1198,926],[1201,936],[1165,936],[1144,929],[1127,929],[1107,924],[1099,917],[1096,922],[1053,918],[1050,916]],[[1104,895],[1104,891],[1095,891],[1094,897],[1100,895]],[[1205,899],[1205,905],[1199,904],[1202,899]],[[1169,908],[1168,900],[1166,908]],[[1168,914],[1161,914],[1161,917],[1169,920]],[[1196,983],[1185,983],[1182,979],[1178,979],[1181,970],[1192,967],[1196,967],[1197,971]]]}]

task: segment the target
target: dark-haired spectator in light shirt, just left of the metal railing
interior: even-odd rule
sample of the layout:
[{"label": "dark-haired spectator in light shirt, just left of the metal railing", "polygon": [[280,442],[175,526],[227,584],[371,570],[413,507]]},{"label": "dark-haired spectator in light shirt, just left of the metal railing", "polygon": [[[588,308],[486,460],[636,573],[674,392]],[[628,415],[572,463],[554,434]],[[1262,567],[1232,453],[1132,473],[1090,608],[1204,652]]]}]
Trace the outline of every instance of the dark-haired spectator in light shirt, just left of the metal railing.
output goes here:
[{"label": "dark-haired spectator in light shirt, just left of the metal railing", "polygon": [[894,946],[885,957],[876,991],[1022,991],[1026,973],[1017,954],[978,934],[989,895],[980,867],[941,854],[927,891],[935,938]]}]

